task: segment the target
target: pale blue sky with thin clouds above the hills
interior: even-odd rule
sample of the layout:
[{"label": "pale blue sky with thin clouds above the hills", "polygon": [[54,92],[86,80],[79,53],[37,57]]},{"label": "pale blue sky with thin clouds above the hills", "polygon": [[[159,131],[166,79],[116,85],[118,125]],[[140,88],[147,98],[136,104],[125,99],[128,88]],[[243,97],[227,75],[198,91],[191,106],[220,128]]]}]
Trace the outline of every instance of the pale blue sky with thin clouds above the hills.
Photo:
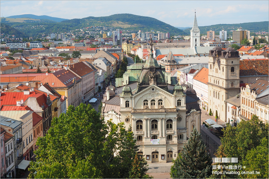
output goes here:
[{"label": "pale blue sky with thin clouds above the hills", "polygon": [[0,1],[0,16],[21,14],[58,18],[100,17],[129,13],[156,18],[174,27],[269,21],[269,1]]}]

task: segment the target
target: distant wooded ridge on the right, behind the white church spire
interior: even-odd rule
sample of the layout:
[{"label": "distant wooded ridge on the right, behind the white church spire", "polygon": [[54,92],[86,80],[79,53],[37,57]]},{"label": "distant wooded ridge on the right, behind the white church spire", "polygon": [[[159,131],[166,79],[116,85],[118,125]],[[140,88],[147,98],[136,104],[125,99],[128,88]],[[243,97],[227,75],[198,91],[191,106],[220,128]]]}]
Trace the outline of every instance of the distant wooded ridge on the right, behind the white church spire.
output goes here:
[{"label": "distant wooded ridge on the right, behind the white church spire", "polygon": [[[250,30],[250,32],[268,32],[269,21],[263,22],[247,22],[241,24],[216,24],[210,26],[199,26],[201,35],[207,35],[207,31],[215,31],[215,34],[219,34],[219,31],[227,31],[227,35],[232,35],[231,30],[237,30],[239,27],[242,27],[243,30]],[[192,28],[185,29],[184,32],[190,35],[190,30]]]}]

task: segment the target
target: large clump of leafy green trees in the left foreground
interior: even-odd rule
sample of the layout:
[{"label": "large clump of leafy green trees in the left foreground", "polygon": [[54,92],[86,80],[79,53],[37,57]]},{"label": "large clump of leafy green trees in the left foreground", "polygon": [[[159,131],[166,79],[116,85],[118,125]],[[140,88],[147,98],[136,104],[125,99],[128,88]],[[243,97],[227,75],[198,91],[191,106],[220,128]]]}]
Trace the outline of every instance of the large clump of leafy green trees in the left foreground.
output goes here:
[{"label": "large clump of leafy green trees in the left foreground", "polygon": [[135,144],[123,123],[105,123],[91,105],[69,106],[38,138],[28,178],[150,178]]}]

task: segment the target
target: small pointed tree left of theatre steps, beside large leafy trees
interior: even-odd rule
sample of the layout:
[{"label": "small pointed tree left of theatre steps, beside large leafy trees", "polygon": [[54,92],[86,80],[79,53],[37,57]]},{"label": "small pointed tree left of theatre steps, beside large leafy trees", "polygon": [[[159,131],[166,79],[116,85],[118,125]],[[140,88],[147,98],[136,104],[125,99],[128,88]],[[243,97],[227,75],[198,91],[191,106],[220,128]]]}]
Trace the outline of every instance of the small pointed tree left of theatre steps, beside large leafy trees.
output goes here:
[{"label": "small pointed tree left of theatre steps, beside large leafy trees", "polygon": [[129,178],[153,178],[146,174],[148,168],[146,167],[147,162],[144,157],[138,156],[135,154],[134,161],[132,163],[132,170],[129,172]]}]

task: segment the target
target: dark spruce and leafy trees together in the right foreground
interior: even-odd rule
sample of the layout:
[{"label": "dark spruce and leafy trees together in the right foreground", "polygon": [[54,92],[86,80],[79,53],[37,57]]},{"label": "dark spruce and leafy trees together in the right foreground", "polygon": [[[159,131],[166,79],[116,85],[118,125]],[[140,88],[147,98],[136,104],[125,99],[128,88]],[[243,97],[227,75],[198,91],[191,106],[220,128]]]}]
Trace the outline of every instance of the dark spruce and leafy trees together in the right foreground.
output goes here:
[{"label": "dark spruce and leafy trees together in the right foreground", "polygon": [[[262,123],[256,115],[250,121],[241,121],[236,127],[228,125],[222,130],[224,136],[221,138],[216,157],[236,157],[237,169],[212,170],[212,160],[207,154],[206,146],[201,139],[201,134],[196,128],[191,133],[188,143],[183,147],[178,158],[173,161],[171,168],[172,178],[268,178],[268,124]],[[214,163],[213,165],[224,165]],[[225,163],[225,166],[234,166],[234,163]],[[245,166],[245,168],[243,167]],[[215,173],[213,174],[214,171]],[[224,173],[226,171],[226,173]],[[229,174],[240,172],[240,174]],[[246,174],[244,171],[257,171],[259,173]],[[217,172],[222,172],[217,174]]]}]

